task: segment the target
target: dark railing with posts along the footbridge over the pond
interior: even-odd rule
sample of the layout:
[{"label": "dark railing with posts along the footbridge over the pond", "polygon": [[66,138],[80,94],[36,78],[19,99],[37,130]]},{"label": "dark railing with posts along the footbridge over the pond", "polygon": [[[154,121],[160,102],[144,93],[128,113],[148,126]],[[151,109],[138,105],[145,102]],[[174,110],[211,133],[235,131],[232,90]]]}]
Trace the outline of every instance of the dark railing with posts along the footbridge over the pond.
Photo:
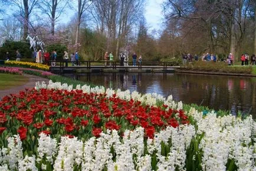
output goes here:
[{"label": "dark railing with posts along the footbridge over the pond", "polygon": [[[163,68],[167,70],[168,66],[172,65],[172,62],[161,62],[161,61],[136,61],[136,65],[133,66],[133,61],[124,61],[121,65],[120,61],[49,61],[51,67],[59,67],[60,70],[63,70],[65,67],[68,68],[132,68],[137,67],[138,69],[142,68]],[[128,65],[126,65],[128,64]]]}]

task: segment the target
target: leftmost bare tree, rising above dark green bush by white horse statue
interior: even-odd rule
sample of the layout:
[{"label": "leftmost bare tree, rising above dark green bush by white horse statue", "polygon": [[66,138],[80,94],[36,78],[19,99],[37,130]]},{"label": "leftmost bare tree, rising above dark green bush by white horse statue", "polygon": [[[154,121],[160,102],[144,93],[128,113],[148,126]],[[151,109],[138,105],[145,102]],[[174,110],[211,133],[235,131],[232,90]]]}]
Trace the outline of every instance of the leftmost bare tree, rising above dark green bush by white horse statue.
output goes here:
[{"label": "leftmost bare tree, rising above dark green bush by white horse statue", "polygon": [[29,26],[29,15],[37,5],[39,0],[14,0],[11,3],[18,7],[19,17],[21,17],[21,22],[23,24],[23,39],[25,40],[28,35]]}]

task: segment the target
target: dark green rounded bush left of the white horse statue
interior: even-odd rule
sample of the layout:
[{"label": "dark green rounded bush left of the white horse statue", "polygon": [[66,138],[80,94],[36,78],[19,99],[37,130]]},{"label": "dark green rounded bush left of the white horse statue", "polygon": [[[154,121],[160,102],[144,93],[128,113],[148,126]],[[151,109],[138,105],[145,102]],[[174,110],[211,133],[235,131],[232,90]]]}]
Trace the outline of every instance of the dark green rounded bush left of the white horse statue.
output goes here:
[{"label": "dark green rounded bush left of the white horse statue", "polygon": [[0,60],[5,60],[6,52],[9,52],[10,60],[15,60],[17,50],[21,53],[22,58],[30,58],[32,51],[29,50],[29,47],[28,42],[6,40],[0,47]]}]

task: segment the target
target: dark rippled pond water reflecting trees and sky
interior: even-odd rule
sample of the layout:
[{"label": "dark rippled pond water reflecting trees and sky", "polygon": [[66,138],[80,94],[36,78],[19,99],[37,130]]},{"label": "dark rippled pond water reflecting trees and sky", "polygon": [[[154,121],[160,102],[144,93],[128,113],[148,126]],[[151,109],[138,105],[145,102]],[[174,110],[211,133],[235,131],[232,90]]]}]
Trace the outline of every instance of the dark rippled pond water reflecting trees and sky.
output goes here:
[{"label": "dark rippled pond water reflecting trees and sky", "polygon": [[100,73],[66,75],[113,89],[172,94],[175,101],[195,103],[215,110],[256,115],[256,78],[199,74]]}]

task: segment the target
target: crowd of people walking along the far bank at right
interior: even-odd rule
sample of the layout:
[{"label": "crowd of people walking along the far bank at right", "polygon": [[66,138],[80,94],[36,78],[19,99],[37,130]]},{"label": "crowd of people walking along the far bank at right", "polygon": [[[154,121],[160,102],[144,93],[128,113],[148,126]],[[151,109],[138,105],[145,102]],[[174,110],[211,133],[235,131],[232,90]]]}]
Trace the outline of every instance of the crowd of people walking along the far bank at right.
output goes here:
[{"label": "crowd of people walking along the far bank at right", "polygon": [[[203,54],[200,58],[196,54],[194,56],[192,56],[191,54],[183,54],[182,55],[182,63],[183,64],[191,63],[192,61],[198,61],[200,59],[202,61],[213,61],[215,63],[216,63],[216,61],[224,61],[228,65],[233,65],[234,60],[235,60],[234,55],[232,55],[232,53],[229,53],[227,55],[227,58],[225,58],[225,59],[222,58],[221,60],[218,60],[218,58],[216,57],[215,54],[209,54],[209,53]],[[240,60],[241,60],[241,65],[248,65],[249,61],[250,61],[251,65],[256,65],[255,54],[252,54],[251,57],[248,53],[242,54]]]}]

